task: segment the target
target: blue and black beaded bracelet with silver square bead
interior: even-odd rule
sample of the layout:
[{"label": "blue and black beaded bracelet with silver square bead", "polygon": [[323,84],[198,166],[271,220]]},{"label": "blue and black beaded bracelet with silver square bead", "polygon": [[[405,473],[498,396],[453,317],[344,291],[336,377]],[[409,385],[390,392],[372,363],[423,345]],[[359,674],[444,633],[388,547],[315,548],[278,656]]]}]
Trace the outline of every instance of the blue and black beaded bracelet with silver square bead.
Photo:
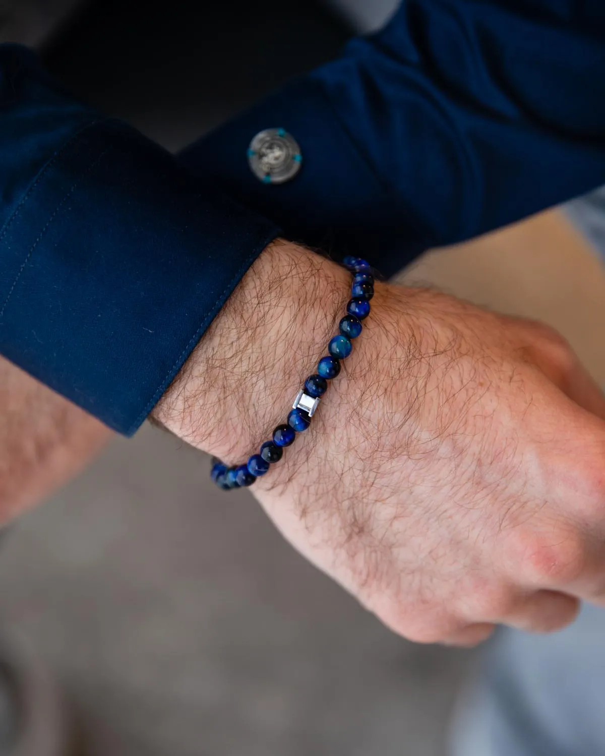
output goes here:
[{"label": "blue and black beaded bracelet with silver square bead", "polygon": [[259,476],[268,472],[271,463],[281,460],[284,447],[293,444],[296,433],[302,433],[309,428],[319,400],[326,392],[327,381],[336,378],[340,373],[340,360],[351,354],[352,339],[359,336],[361,321],[370,314],[370,299],[374,296],[374,276],[370,264],[360,257],[346,257],[343,265],[353,274],[352,299],[346,305],[347,314],[340,321],[340,333],[327,345],[330,354],[321,358],[317,373],[307,378],[304,389],[296,395],[287,417],[287,424],[280,425],[273,431],[273,440],[265,441],[259,454],[253,454],[245,465],[234,467],[228,467],[213,457],[210,477],[223,491],[252,485]]}]

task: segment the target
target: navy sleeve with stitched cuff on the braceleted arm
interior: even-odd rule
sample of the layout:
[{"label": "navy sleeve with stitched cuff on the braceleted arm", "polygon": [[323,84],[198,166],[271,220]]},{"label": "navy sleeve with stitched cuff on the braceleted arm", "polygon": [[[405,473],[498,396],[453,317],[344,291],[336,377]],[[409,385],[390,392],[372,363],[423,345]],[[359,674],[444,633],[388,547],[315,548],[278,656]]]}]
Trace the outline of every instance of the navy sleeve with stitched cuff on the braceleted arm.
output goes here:
[{"label": "navy sleeve with stitched cuff on the braceleted arm", "polygon": [[141,425],[273,222],[0,46],[0,353]]}]

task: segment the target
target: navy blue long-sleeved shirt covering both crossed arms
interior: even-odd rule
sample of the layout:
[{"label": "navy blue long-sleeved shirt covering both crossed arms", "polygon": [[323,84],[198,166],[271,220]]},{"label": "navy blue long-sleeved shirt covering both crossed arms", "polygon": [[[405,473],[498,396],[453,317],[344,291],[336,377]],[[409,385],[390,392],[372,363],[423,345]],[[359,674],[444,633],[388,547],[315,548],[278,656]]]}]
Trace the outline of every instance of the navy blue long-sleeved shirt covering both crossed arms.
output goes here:
[{"label": "navy blue long-sleeved shirt covering both crossed arms", "polygon": [[407,0],[178,158],[0,46],[0,166],[0,352],[129,435],[276,235],[391,274],[605,183],[605,4]]}]

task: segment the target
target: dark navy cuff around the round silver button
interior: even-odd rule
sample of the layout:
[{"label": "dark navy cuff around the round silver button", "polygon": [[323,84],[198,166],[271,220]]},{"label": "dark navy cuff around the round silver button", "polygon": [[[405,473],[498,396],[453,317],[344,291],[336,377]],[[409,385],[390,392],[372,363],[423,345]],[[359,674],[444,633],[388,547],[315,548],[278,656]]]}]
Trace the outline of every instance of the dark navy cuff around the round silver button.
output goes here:
[{"label": "dark navy cuff around the round silver button", "polygon": [[[259,181],[247,159],[252,138],[285,129],[302,166],[283,184]],[[291,240],[320,246],[335,259],[368,257],[391,275],[430,244],[429,232],[398,202],[361,155],[321,82],[306,76],[181,153],[200,175],[271,218]]]}]

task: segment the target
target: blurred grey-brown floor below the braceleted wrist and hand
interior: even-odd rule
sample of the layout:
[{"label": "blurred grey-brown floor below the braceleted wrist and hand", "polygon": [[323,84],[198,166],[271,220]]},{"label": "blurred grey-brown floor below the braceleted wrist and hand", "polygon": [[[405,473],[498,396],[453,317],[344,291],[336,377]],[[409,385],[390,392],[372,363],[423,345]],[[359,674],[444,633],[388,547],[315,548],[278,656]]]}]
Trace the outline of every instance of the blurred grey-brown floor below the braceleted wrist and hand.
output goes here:
[{"label": "blurred grey-brown floor below the braceleted wrist and hand", "polygon": [[8,535],[2,625],[57,674],[94,756],[434,756],[464,652],[413,646],[252,497],[146,427]]}]

